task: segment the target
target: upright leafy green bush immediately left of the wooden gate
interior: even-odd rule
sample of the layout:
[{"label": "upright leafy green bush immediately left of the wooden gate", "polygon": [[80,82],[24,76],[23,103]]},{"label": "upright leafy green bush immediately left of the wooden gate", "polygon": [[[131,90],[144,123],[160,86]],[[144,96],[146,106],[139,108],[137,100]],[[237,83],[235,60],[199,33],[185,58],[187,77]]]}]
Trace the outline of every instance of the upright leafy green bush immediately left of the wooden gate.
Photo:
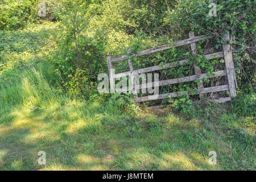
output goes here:
[{"label": "upright leafy green bush immediately left of the wooden gate", "polygon": [[65,7],[56,39],[59,51],[53,61],[69,95],[84,98],[97,93],[97,76],[107,70],[104,31],[87,34],[92,17],[87,8],[83,1]]}]

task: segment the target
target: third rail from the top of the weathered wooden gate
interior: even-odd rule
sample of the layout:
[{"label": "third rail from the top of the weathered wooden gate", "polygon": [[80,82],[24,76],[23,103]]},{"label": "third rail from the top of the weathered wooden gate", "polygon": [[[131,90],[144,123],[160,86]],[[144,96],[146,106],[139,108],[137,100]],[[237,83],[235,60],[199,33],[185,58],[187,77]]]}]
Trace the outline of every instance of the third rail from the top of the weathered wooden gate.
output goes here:
[{"label": "third rail from the top of the weathered wooden gate", "polygon": [[[159,86],[164,86],[164,85],[171,85],[171,84],[178,84],[181,82],[187,82],[187,81],[194,81],[194,80],[201,80],[203,78],[212,78],[212,77],[220,77],[220,76],[225,76],[226,75],[226,71],[222,70],[222,71],[217,71],[217,72],[213,72],[213,75],[211,75],[210,77],[208,76],[207,73],[203,73],[200,75],[192,75],[192,76],[185,76],[185,77],[180,77],[180,78],[174,78],[174,79],[170,79],[170,80],[162,80],[159,81]],[[147,84],[141,84],[138,86],[138,89],[142,89],[142,88],[151,88],[154,87],[154,82],[151,83],[147,83]],[[132,86],[129,87],[129,90],[133,89]],[[121,92],[126,92],[127,88],[122,88],[120,89]]]}]

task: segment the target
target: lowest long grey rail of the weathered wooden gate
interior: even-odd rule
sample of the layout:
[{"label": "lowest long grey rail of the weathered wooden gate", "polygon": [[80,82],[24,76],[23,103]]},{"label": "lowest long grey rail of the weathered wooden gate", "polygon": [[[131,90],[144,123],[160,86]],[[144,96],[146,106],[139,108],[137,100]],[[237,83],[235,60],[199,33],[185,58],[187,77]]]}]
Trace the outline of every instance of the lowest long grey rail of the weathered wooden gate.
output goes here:
[{"label": "lowest long grey rail of the weathered wooden gate", "polygon": [[221,86],[213,86],[213,87],[208,87],[208,88],[202,88],[202,89],[197,89],[197,93],[192,93],[188,91],[184,92],[177,92],[177,93],[165,93],[165,94],[159,94],[158,97],[154,96],[145,96],[145,97],[138,97],[135,98],[135,102],[144,102],[144,101],[152,101],[152,100],[159,100],[159,99],[164,99],[164,98],[169,98],[169,97],[178,97],[182,96],[183,94],[201,94],[201,93],[210,93],[210,92],[220,92],[220,91],[225,91],[229,90],[228,85],[221,85]]}]

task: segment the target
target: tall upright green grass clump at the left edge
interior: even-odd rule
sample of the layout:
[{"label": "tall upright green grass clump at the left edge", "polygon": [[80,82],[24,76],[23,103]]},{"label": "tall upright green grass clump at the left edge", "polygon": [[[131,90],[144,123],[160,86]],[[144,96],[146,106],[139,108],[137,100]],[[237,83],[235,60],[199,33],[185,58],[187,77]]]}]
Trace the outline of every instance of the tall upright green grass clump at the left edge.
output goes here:
[{"label": "tall upright green grass clump at the left edge", "polygon": [[15,76],[0,82],[0,122],[10,121],[16,107],[40,106],[57,99],[56,90],[47,81],[49,65],[31,65],[24,71],[11,70]]}]

